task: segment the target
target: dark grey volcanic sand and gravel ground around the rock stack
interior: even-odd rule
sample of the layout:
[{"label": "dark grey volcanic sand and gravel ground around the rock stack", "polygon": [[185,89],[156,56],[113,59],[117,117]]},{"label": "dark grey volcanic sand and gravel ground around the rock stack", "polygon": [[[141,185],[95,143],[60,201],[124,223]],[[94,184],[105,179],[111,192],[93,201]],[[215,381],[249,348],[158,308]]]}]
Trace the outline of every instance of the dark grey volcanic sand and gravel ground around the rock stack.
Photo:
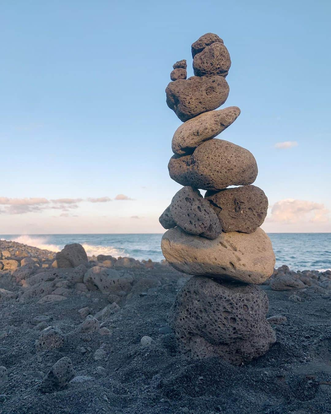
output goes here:
[{"label": "dark grey volcanic sand and gravel ground around the rock stack", "polygon": [[[78,310],[88,307],[95,315],[109,305],[107,295],[68,282],[74,269],[46,267],[51,252],[5,241],[0,251],[18,253],[18,262],[23,253],[38,259],[38,266],[0,270],[0,366],[8,377],[0,378],[0,413],[331,412],[329,274],[308,273],[303,289],[261,285],[269,297],[268,317],[282,315],[287,323],[272,325],[277,342],[266,355],[238,367],[214,358],[186,361],[176,353],[168,312],[188,277],[168,265],[119,262],[124,266],[117,268],[133,277],[132,288],[100,320],[109,335],[84,334],[77,332],[84,320]],[[24,279],[26,266],[34,270]],[[26,281],[45,273],[65,299],[38,303],[43,293],[22,296]],[[35,341],[48,325],[62,330],[64,345],[37,353]],[[151,344],[141,344],[144,335]],[[42,393],[39,383],[63,356],[72,360],[76,377],[65,390]]]}]

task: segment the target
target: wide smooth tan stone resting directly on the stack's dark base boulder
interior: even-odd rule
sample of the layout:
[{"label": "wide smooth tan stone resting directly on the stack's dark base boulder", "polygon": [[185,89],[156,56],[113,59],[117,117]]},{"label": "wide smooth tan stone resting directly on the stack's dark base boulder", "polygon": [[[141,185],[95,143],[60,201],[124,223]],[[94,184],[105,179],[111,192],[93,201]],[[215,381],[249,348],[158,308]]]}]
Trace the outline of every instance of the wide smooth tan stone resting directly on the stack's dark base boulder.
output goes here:
[{"label": "wide smooth tan stone resting directly on the stack's dark base boulder", "polygon": [[261,228],[254,233],[221,233],[216,239],[170,229],[161,241],[166,260],[180,272],[261,284],[273,273],[275,254]]}]

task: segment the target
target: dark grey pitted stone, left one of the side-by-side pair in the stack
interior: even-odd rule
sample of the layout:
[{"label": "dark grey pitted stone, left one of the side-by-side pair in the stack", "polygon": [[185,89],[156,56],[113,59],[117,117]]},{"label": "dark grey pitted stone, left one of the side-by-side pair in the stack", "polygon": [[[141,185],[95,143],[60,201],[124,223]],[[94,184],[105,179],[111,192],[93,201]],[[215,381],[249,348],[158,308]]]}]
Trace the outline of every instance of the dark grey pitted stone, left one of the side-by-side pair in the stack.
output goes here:
[{"label": "dark grey pitted stone, left one of the side-by-side pair in the stack", "polygon": [[192,187],[183,187],[177,191],[170,204],[170,216],[175,225],[190,234],[214,239],[222,231],[209,202],[204,200],[199,190]]}]

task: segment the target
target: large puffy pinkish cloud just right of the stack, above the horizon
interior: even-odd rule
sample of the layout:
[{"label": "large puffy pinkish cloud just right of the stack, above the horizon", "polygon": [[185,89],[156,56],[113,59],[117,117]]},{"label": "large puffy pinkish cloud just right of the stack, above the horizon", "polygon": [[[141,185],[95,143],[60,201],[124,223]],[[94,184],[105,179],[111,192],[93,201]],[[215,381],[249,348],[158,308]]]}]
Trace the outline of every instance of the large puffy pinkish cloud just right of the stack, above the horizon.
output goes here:
[{"label": "large puffy pinkish cloud just right of the stack, above the horizon", "polygon": [[288,198],[277,201],[271,208],[267,221],[294,224],[300,222],[326,223],[330,219],[324,204]]}]

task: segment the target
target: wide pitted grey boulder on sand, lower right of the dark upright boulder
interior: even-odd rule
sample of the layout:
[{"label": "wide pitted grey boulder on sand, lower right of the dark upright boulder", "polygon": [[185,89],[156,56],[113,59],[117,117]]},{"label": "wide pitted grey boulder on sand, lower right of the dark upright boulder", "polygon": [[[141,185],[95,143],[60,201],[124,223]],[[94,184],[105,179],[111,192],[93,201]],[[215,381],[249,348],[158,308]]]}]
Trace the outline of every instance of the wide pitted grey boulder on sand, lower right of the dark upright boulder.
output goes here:
[{"label": "wide pitted grey boulder on sand, lower right of the dark upright boulder", "polygon": [[89,290],[99,289],[103,294],[124,296],[132,289],[133,277],[124,271],[94,266],[85,273],[84,283]]}]

